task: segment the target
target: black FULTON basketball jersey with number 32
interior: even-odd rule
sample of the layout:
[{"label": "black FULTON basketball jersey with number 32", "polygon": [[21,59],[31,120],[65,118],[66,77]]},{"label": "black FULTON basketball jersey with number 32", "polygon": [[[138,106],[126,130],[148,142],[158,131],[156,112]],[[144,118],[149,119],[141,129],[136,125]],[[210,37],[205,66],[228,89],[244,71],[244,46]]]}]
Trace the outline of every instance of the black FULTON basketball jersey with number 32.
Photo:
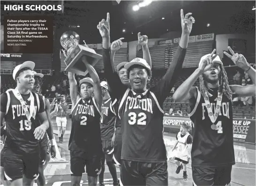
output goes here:
[{"label": "black FULTON basketball jersey with number 32", "polygon": [[163,114],[155,94],[149,89],[136,95],[127,89],[120,101],[121,159],[138,162],[166,162]]}]

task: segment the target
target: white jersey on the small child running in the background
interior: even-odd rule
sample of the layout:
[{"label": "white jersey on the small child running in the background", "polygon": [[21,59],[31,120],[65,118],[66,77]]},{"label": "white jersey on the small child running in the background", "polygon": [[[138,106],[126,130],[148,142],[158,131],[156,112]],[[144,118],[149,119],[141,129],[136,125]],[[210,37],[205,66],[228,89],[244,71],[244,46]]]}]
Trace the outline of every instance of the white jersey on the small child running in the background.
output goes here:
[{"label": "white jersey on the small child running in the background", "polygon": [[177,134],[177,154],[176,157],[181,160],[188,161],[188,144],[192,143],[192,137],[189,133],[182,135],[181,132]]}]

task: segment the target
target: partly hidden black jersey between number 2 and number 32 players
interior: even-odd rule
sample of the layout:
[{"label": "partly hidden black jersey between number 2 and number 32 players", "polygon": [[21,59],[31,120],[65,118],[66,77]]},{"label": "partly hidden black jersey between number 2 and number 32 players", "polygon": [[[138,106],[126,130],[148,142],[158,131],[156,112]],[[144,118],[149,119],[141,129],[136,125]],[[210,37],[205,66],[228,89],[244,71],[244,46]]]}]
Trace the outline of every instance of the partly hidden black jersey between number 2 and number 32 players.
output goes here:
[{"label": "partly hidden black jersey between number 2 and number 32 players", "polygon": [[102,117],[100,119],[100,130],[102,140],[111,140],[115,131],[115,112],[111,98],[103,100],[101,105]]}]

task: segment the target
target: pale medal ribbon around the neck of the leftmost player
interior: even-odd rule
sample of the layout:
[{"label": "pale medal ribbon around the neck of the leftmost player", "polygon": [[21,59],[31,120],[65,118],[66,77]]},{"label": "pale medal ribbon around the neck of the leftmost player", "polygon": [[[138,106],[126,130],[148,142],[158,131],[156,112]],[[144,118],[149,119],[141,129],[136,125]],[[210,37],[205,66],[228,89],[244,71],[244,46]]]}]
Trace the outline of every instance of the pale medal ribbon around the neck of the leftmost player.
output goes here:
[{"label": "pale medal ribbon around the neck of the leftmost player", "polygon": [[22,108],[23,110],[25,111],[25,114],[27,116],[27,119],[29,120],[30,122],[30,119],[32,117],[32,114],[34,112],[34,101],[35,101],[35,98],[34,96],[32,95],[32,93],[30,92],[30,112],[28,111],[28,108],[27,106],[25,105],[25,102],[21,96],[21,93],[19,92],[19,90],[17,89],[17,87],[15,88],[15,90],[13,90],[13,93],[14,93],[14,96],[19,100],[19,102],[21,103],[22,105]]}]

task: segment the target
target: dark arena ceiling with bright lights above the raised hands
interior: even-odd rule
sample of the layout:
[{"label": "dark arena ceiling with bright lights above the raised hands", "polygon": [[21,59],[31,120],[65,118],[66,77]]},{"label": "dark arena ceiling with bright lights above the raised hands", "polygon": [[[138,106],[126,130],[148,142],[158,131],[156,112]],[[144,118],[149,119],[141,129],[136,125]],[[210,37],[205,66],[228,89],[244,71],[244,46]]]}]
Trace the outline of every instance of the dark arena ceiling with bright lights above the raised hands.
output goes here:
[{"label": "dark arena ceiling with bright lights above the raised hands", "polygon": [[[206,33],[253,33],[255,34],[255,1],[153,1],[149,6],[133,11],[132,7],[141,1],[64,1],[61,11],[3,11],[3,4],[51,4],[61,1],[1,1],[1,24],[4,15],[54,15],[54,24],[60,37],[66,30],[75,30],[81,40],[100,43],[96,28],[99,21],[110,13],[112,40],[125,37],[125,41],[137,39],[137,33],[158,38],[169,31],[181,31],[180,9],[192,12],[196,19],[191,35]],[[162,17],[165,17],[162,20]],[[207,27],[207,23],[210,26]],[[69,25],[79,28],[69,28]],[[126,31],[123,32],[122,30]],[[168,31],[167,31],[168,30]],[[132,34],[133,33],[133,34]],[[58,38],[57,37],[57,38]]]}]

